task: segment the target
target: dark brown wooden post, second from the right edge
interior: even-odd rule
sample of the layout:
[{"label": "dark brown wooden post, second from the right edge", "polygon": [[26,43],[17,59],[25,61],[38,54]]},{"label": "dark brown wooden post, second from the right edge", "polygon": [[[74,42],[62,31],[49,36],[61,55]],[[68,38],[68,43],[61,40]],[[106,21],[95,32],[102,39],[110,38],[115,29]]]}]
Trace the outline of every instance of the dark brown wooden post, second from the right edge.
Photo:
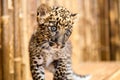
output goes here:
[{"label": "dark brown wooden post, second from the right edge", "polygon": [[98,27],[100,27],[100,54],[101,60],[109,60],[109,13],[108,1],[98,0]]}]

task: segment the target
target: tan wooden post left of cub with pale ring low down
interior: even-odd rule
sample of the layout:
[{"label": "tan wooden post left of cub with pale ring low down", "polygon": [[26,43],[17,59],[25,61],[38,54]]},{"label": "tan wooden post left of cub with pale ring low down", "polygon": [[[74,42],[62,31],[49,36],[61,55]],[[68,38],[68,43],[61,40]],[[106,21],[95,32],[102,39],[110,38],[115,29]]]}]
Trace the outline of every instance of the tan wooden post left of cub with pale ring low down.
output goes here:
[{"label": "tan wooden post left of cub with pale ring low down", "polygon": [[[21,80],[21,47],[20,47],[20,4],[21,4],[21,0],[14,0],[14,69],[15,69],[15,75],[14,75],[14,79],[15,80]],[[23,43],[22,43],[23,44]]]}]

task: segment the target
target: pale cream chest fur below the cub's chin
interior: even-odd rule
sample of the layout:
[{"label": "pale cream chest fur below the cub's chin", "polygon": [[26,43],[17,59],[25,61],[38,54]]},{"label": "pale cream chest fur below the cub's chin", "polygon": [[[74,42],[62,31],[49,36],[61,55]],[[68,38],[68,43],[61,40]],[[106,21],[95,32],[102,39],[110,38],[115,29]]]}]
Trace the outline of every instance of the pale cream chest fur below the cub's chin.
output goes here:
[{"label": "pale cream chest fur below the cub's chin", "polygon": [[59,58],[64,58],[70,56],[70,48],[68,44],[64,48],[54,48],[48,45],[48,43],[43,44],[40,50],[40,55],[43,56],[46,67],[49,66],[54,60]]}]

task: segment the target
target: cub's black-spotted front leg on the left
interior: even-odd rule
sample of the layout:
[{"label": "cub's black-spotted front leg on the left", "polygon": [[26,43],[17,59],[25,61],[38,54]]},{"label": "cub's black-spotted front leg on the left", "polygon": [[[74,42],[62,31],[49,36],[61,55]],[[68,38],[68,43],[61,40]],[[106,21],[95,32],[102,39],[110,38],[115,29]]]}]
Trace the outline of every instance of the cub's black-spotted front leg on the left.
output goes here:
[{"label": "cub's black-spotted front leg on the left", "polygon": [[43,57],[39,54],[30,56],[30,69],[33,80],[45,80]]}]

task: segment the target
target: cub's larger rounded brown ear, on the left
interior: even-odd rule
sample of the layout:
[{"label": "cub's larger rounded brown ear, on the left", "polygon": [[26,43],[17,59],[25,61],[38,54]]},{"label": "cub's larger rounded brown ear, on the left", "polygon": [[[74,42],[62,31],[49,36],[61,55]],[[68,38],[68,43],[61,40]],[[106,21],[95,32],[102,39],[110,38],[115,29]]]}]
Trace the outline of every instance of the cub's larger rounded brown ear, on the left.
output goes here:
[{"label": "cub's larger rounded brown ear, on the left", "polygon": [[37,8],[37,16],[45,16],[50,11],[51,11],[51,7],[50,6],[48,6],[47,4],[41,4]]}]

